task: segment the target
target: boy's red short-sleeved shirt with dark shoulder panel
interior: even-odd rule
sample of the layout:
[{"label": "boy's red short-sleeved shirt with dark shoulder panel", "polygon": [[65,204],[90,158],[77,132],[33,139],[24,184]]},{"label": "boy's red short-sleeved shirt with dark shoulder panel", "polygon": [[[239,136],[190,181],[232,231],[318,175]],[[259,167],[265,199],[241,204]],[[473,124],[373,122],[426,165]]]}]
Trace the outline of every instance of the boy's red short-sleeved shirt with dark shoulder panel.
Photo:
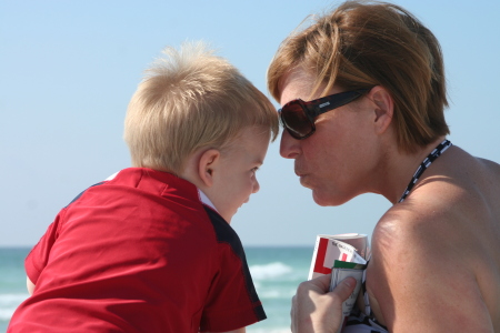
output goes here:
[{"label": "boy's red short-sleeved shirt with dark shoulder panel", "polygon": [[124,169],[61,210],[8,332],[221,332],[266,319],[241,242],[199,190]]}]

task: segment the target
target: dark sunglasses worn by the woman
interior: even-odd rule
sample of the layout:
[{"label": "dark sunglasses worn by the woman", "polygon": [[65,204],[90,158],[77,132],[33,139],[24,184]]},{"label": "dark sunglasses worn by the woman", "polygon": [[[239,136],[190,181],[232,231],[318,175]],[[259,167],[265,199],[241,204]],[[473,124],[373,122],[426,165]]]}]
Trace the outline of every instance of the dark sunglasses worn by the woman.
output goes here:
[{"label": "dark sunglasses worn by the woman", "polygon": [[314,133],[314,118],[346,105],[369,91],[370,89],[358,89],[330,94],[309,102],[300,99],[290,101],[278,110],[281,124],[294,139],[303,140]]}]

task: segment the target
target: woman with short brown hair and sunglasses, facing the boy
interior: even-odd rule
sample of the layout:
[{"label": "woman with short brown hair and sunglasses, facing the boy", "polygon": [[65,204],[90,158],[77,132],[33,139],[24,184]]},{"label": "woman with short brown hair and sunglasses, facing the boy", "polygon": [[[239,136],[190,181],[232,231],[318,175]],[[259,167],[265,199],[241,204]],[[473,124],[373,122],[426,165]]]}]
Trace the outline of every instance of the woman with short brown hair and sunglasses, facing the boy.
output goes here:
[{"label": "woman with short brown hair and sunglasses, facing the boy", "polygon": [[[356,327],[500,332],[500,167],[446,139],[432,32],[401,7],[348,1],[283,41],[268,87],[280,153],[319,205],[369,192],[393,203],[373,231]],[[322,285],[299,287],[298,332],[336,332],[326,307],[340,299]]]}]

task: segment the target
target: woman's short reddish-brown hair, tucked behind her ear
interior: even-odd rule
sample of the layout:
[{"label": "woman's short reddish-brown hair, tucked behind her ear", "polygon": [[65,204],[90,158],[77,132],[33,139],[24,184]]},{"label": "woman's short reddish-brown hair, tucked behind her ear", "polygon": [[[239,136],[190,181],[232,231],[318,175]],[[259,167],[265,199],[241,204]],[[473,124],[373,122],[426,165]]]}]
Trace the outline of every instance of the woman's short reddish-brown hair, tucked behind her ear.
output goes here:
[{"label": "woman's short reddish-brown hair, tucked behind her ear", "polygon": [[398,147],[413,152],[449,133],[441,47],[414,16],[377,1],[347,1],[312,17],[312,24],[290,34],[268,70],[268,89],[280,99],[280,82],[294,68],[316,77],[312,93],[384,87],[394,101]]}]

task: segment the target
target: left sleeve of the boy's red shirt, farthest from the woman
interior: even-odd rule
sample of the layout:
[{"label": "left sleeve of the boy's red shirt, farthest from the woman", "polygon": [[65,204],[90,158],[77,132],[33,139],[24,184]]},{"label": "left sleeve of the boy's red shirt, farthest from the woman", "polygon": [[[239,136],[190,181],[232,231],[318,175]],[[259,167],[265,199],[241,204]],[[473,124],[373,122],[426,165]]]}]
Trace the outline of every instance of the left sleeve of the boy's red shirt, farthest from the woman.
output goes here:
[{"label": "left sleeve of the boy's red shirt, farthest from the woman", "polygon": [[33,284],[37,284],[40,273],[49,261],[50,250],[58,238],[59,224],[63,212],[61,211],[57,215],[56,220],[49,225],[43,236],[24,260],[26,273]]}]

